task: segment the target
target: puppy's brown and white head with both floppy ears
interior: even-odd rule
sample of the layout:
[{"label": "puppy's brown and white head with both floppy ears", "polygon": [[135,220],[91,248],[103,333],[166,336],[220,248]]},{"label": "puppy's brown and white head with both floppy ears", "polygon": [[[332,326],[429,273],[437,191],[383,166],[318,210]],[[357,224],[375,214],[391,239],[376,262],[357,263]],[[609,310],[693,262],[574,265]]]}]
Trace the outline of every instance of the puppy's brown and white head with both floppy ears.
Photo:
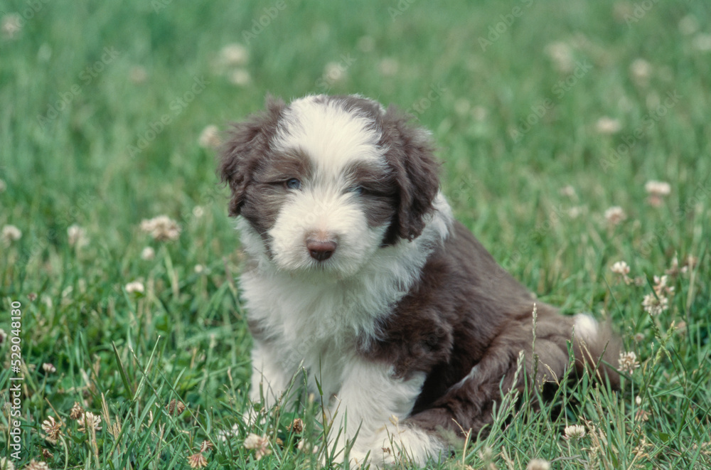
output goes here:
[{"label": "puppy's brown and white head with both floppy ears", "polygon": [[[424,228],[439,191],[429,134],[358,96],[267,98],[235,124],[219,173],[245,248],[278,269],[348,277]],[[257,246],[258,245],[258,246]]]}]

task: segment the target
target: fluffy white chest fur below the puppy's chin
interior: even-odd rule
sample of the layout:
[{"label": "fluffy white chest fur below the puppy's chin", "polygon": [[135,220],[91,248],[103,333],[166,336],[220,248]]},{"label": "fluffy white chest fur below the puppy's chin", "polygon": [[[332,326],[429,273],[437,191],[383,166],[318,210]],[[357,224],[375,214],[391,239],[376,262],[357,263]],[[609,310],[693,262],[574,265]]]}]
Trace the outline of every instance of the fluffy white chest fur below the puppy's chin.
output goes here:
[{"label": "fluffy white chest fur below the puppy's chin", "polygon": [[370,282],[313,282],[288,274],[247,272],[240,281],[250,323],[263,331],[260,342],[270,360],[287,375],[304,368],[309,385],[318,380],[326,397],[341,388],[357,338],[374,338],[375,319],[405,294]]}]

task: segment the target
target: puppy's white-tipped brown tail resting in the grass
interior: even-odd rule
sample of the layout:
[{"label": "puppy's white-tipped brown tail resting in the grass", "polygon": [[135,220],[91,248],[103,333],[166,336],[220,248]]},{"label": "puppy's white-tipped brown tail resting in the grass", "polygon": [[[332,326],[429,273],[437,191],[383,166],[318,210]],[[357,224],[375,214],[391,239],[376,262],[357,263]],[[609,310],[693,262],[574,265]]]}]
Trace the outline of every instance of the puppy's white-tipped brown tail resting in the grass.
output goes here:
[{"label": "puppy's white-tipped brown tail resting in the grass", "polygon": [[609,321],[601,325],[588,314],[574,316],[573,351],[577,373],[589,370],[599,380],[607,380],[613,389],[619,388],[616,368],[621,341],[613,333]]}]

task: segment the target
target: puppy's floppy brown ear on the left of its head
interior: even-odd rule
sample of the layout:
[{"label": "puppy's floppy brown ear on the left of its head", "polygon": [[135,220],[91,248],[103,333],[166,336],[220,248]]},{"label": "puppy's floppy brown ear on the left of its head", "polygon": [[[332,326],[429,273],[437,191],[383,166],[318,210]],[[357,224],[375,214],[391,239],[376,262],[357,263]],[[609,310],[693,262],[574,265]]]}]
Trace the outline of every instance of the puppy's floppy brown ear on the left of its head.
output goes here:
[{"label": "puppy's floppy brown ear on the left of its head", "polygon": [[228,138],[220,151],[218,174],[232,191],[229,213],[240,215],[245,191],[260,156],[269,150],[269,141],[277,131],[279,118],[286,105],[280,98],[267,95],[264,112],[252,114],[245,122],[232,124]]}]

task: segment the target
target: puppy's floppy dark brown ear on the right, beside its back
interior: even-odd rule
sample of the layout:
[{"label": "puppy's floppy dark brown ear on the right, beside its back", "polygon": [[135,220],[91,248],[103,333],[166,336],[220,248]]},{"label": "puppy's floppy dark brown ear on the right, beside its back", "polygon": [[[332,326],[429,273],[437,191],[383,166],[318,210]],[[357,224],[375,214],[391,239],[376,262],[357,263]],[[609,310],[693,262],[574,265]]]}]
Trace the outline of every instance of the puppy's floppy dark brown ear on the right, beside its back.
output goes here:
[{"label": "puppy's floppy dark brown ear on the right, beside its back", "polygon": [[383,137],[398,190],[398,207],[386,236],[392,244],[397,237],[412,240],[424,229],[424,216],[432,211],[432,201],[439,191],[439,163],[429,132],[408,124],[410,116],[388,107],[382,117]]}]

